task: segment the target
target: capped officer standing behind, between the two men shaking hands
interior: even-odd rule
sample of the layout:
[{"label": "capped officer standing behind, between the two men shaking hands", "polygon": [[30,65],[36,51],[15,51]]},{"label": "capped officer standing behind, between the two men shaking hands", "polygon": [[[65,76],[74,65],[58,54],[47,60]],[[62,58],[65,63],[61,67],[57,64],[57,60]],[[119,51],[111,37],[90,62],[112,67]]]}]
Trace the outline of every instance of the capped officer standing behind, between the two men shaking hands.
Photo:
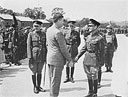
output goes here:
[{"label": "capped officer standing behind, between the two men shaking hands", "polygon": [[[74,59],[78,54],[78,47],[81,42],[80,34],[75,30],[75,26],[74,26],[75,23],[76,21],[68,21],[69,31],[65,36],[66,44],[72,59]],[[73,75],[74,75],[74,65],[73,67],[70,68],[69,64],[66,64],[66,80],[64,81],[64,83],[69,81],[74,83],[75,81],[73,79]]]}]

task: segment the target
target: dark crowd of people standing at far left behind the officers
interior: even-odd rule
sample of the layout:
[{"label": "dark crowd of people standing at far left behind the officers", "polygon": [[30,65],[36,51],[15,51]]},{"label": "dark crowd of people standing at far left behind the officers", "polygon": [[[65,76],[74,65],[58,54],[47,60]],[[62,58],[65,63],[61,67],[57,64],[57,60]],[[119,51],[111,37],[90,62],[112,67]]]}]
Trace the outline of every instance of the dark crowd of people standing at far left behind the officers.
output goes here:
[{"label": "dark crowd of people standing at far left behind the officers", "polygon": [[19,29],[13,25],[1,28],[0,32],[3,37],[2,50],[5,55],[5,63],[21,65],[20,60],[27,57],[27,34],[30,28]]}]

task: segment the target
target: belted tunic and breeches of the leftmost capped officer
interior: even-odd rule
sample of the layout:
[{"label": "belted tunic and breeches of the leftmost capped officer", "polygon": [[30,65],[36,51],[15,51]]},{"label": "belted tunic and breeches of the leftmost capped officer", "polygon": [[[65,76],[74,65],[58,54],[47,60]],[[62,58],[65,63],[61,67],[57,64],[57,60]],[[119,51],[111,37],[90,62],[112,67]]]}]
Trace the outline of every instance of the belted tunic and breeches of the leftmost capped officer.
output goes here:
[{"label": "belted tunic and breeches of the leftmost capped officer", "polygon": [[33,73],[42,71],[46,61],[46,54],[46,34],[43,32],[30,32],[27,39],[27,55],[28,58],[32,58],[29,67]]}]

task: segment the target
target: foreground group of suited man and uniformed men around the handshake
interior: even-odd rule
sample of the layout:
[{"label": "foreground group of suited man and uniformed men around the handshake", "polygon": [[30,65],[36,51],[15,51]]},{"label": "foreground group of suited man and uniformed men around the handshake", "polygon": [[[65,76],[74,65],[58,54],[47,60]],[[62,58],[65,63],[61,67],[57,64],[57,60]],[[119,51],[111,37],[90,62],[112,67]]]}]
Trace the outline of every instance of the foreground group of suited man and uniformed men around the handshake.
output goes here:
[{"label": "foreground group of suited man and uniformed men around the handshake", "polygon": [[[33,22],[33,31],[27,38],[27,56],[32,71],[34,93],[45,92],[41,88],[42,68],[47,62],[49,67],[50,97],[58,97],[62,70],[66,64],[66,80],[74,83],[74,64],[85,54],[83,67],[88,78],[89,92],[85,97],[97,97],[97,88],[101,81],[101,68],[105,63],[106,71],[112,72],[112,58],[117,49],[116,35],[112,26],[107,26],[107,33],[101,33],[100,23],[90,19],[88,34],[85,32],[85,45],[78,52],[81,43],[80,34],[75,28],[75,21],[68,21],[64,27],[62,14],[53,16],[53,25],[46,32],[40,30],[42,22]],[[47,61],[46,61],[47,60]]]}]

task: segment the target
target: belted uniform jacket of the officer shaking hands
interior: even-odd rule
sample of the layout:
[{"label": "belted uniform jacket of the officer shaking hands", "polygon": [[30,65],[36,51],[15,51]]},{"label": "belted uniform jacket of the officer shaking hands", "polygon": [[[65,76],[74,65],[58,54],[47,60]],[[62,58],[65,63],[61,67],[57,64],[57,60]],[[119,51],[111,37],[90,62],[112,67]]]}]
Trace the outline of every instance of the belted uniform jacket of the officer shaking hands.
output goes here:
[{"label": "belted uniform jacket of the officer shaking hands", "polygon": [[78,54],[78,58],[80,58],[85,53],[85,57],[83,60],[84,65],[94,66],[94,67],[100,65],[100,61],[101,61],[100,55],[104,54],[103,42],[104,42],[103,37],[98,33],[93,36],[89,35],[87,37],[85,45]]}]

